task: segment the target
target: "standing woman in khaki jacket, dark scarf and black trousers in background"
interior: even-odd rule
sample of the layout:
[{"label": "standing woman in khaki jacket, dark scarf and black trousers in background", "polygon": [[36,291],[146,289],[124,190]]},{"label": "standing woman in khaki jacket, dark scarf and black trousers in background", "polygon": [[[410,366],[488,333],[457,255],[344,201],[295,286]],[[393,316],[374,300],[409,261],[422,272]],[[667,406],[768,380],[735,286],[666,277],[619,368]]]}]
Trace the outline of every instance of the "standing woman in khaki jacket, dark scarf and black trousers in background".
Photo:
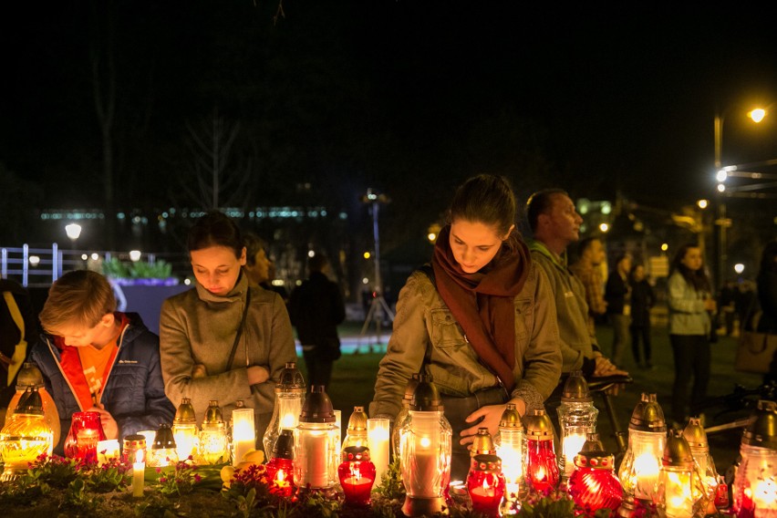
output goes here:
[{"label": "standing woman in khaki jacket, dark scarf and black trousers in background", "polygon": [[[717,304],[710,292],[701,249],[696,243],[679,247],[668,279],[669,342],[675,359],[671,416],[682,427],[707,397],[710,384],[710,313]],[[693,385],[688,387],[693,378]],[[690,412],[690,413],[689,413]]]}]

